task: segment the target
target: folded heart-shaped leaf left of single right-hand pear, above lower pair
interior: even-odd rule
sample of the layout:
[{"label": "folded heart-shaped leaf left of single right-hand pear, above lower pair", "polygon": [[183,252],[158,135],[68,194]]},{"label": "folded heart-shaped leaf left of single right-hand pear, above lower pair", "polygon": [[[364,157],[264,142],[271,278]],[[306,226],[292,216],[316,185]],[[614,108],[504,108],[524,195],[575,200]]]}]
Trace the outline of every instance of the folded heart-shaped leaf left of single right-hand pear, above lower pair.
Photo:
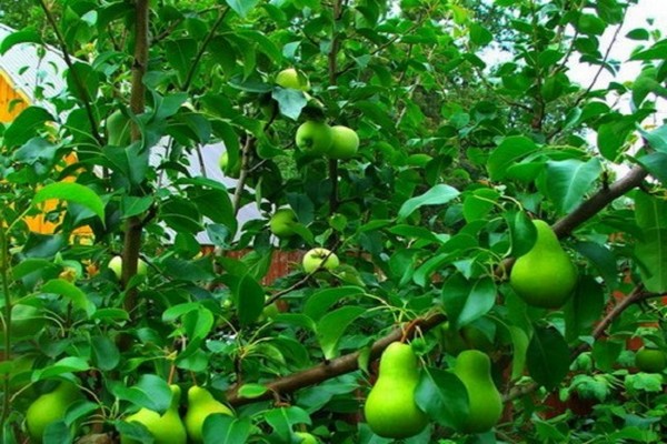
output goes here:
[{"label": "folded heart-shaped leaf left of single right-hand pear, above lower pair", "polygon": [[442,286],[442,304],[452,329],[460,329],[487,314],[496,303],[491,278],[468,281],[458,273]]}]

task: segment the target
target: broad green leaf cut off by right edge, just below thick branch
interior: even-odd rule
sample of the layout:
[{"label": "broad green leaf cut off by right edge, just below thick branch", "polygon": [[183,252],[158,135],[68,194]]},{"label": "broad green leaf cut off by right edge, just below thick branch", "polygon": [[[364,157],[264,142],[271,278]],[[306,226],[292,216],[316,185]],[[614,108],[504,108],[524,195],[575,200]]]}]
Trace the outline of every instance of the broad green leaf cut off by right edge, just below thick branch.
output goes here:
[{"label": "broad green leaf cut off by right edge, just below thick branch", "polygon": [[667,291],[667,229],[644,230],[644,239],[635,246],[641,282],[646,290]]}]

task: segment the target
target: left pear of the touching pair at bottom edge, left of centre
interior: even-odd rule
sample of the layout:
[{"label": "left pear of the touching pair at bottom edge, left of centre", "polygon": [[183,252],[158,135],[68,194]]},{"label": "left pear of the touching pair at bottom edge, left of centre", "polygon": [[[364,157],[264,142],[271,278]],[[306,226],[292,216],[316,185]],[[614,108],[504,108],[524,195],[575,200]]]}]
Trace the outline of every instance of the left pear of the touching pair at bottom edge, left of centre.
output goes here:
[{"label": "left pear of the touching pair at bottom edge, left of centre", "polygon": [[[149,408],[141,408],[139,412],[126,417],[128,423],[142,424],[153,435],[155,444],[186,444],[188,436],[186,427],[178,414],[180,403],[180,387],[176,384],[171,389],[171,405],[169,410],[160,415]],[[121,436],[121,444],[141,444],[138,441]]]}]

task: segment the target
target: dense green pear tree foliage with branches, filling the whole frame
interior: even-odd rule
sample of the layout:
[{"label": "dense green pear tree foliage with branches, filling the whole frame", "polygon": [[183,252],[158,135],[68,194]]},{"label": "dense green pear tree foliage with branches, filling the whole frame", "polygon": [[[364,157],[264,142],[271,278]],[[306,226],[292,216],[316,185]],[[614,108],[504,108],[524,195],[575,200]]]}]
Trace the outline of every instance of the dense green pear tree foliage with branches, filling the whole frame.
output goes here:
[{"label": "dense green pear tree foliage with branches, filling the whole frame", "polygon": [[[398,340],[420,360],[428,416],[407,443],[661,440],[663,374],[634,356],[666,346],[667,46],[657,26],[623,27],[634,1],[56,3],[36,20],[71,56],[68,89],[54,112],[0,127],[4,443],[23,442],[28,406],[62,380],[84,396],[49,443],[148,443],[122,420],[168,411],[170,384],[233,407],[207,421],[211,443],[391,442],[362,405]],[[22,28],[0,51],[43,32]],[[630,60],[610,60],[603,36],[636,47]],[[637,78],[604,81],[621,62]],[[277,85],[287,68],[310,89]],[[131,135],[111,128],[119,111]],[[355,129],[358,154],[299,149],[306,120]],[[188,173],[215,143],[236,188]],[[31,231],[50,199],[56,229]],[[252,203],[265,220],[239,223]],[[282,206],[299,223],[278,239]],[[508,283],[531,219],[576,263],[556,310]],[[340,266],[265,280],[272,258],[316,246]],[[461,426],[462,349],[490,356],[504,396],[482,434]]]}]

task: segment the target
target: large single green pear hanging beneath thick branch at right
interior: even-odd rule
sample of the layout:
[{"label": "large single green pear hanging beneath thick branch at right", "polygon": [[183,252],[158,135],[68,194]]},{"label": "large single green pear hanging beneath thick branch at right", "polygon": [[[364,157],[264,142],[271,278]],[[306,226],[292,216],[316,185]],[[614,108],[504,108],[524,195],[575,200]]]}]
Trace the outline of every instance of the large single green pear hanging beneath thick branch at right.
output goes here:
[{"label": "large single green pear hanging beneath thick branch at right", "polygon": [[558,309],[577,285],[577,270],[551,228],[539,220],[532,223],[537,240],[528,253],[516,260],[509,283],[528,305]]}]

